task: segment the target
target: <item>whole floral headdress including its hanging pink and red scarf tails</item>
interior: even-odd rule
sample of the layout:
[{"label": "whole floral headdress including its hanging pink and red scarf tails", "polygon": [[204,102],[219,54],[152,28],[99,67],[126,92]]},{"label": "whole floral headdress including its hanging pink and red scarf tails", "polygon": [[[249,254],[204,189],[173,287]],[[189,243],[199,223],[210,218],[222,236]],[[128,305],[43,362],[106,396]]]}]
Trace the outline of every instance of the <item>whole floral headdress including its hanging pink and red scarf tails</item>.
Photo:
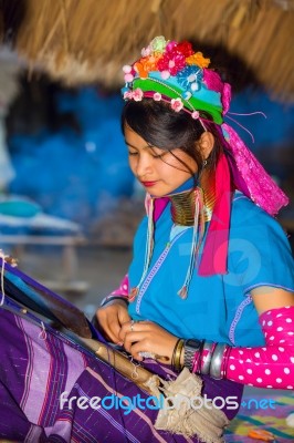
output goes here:
[{"label": "whole floral headdress including its hanging pink and red scarf tails", "polygon": [[210,60],[201,52],[195,52],[188,41],[178,43],[156,37],[143,49],[139,60],[123,68],[125,86],[122,89],[126,101],[138,102],[145,97],[165,101],[175,112],[183,111],[199,120],[204,130],[206,122],[216,124],[227,141],[231,155],[227,157],[223,153],[218,161],[217,198],[199,266],[200,275],[227,272],[231,208],[228,196],[233,188],[240,189],[271,215],[288,203],[240,136],[224,122],[231,86],[222,82],[209,64]]}]

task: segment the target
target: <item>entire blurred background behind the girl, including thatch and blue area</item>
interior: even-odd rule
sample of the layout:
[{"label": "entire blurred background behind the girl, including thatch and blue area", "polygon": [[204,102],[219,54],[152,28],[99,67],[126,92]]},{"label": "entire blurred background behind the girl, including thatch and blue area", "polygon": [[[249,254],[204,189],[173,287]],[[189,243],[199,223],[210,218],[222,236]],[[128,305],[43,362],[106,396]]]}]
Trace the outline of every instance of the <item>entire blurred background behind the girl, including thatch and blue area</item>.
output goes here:
[{"label": "entire blurred background behind the girl, including thatch and blue area", "polygon": [[[211,58],[231,112],[266,115],[229,123],[293,202],[293,25],[291,0],[1,0],[0,247],[90,316],[119,282],[144,214],[122,65],[160,34]],[[293,203],[280,220],[292,241]]]}]

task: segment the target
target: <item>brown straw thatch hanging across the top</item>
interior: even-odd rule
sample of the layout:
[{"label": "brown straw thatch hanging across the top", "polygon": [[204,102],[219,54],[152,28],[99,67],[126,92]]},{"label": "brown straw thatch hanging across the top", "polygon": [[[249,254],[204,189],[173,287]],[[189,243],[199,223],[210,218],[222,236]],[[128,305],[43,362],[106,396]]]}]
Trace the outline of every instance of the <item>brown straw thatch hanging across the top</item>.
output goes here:
[{"label": "brown straw thatch hanging across the top", "polygon": [[[221,44],[241,56],[269,90],[283,99],[294,95],[293,0],[2,3],[3,33],[9,30],[8,38],[30,69],[41,66],[69,84],[120,84],[122,65],[134,61],[155,35],[164,34],[168,39],[192,38],[212,47]],[[7,23],[9,20],[12,24]]]}]

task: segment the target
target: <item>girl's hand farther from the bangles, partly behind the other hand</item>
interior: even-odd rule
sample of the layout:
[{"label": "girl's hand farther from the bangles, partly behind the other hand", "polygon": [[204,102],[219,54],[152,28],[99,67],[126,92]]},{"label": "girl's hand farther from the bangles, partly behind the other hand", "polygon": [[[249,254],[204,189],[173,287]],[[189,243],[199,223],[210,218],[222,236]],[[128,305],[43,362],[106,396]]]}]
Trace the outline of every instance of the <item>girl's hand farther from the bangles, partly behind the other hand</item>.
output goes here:
[{"label": "girl's hand farther from the bangles, partly behind the other hand", "polygon": [[126,302],[117,299],[109,301],[106,306],[97,309],[96,319],[105,338],[115,344],[122,344],[120,328],[130,320]]}]

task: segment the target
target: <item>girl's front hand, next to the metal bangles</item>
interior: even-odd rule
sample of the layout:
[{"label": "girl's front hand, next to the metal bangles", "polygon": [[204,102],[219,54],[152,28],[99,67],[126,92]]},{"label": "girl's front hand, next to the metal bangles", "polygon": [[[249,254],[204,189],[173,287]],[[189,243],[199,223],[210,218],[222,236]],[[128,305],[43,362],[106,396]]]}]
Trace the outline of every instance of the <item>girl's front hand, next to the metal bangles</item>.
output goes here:
[{"label": "girl's front hand, next to the metal bangles", "polygon": [[151,321],[127,321],[119,332],[124,348],[134,359],[141,361],[139,352],[149,352],[156,356],[159,362],[170,364],[174,348],[178,337]]}]

